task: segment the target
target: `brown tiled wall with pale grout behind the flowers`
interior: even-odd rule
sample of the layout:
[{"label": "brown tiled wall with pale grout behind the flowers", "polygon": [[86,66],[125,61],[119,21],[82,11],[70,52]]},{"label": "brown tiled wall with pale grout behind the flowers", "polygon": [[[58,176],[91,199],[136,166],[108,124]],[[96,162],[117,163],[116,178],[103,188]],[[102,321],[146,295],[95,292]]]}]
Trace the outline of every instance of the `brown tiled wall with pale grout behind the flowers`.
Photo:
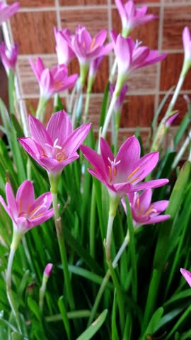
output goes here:
[{"label": "brown tiled wall with pale grout behind the flowers", "polygon": [[[11,18],[13,39],[19,44],[18,74],[21,81],[21,97],[26,103],[37,106],[38,84],[28,57],[40,56],[47,67],[57,63],[54,50],[53,27],[70,28],[72,32],[81,23],[95,34],[101,28],[114,28],[120,33],[121,23],[114,0],[20,0],[21,10]],[[168,52],[162,63],[138,70],[129,81],[129,92],[122,113],[121,128],[125,135],[131,135],[139,125],[144,137],[148,134],[154,110],[171,86],[175,85],[183,62],[182,30],[187,25],[191,29],[191,0],[137,0],[136,4],[146,4],[148,13],[158,15],[158,19],[136,28],[132,34],[152,49]],[[12,4],[13,0],[7,0]],[[109,36],[109,35],[108,35]],[[105,57],[91,98],[91,120],[98,127],[98,116],[103,91],[113,55]],[[69,66],[70,72],[78,71],[77,62]],[[181,91],[176,108],[180,123],[186,111],[183,94],[191,95],[191,72]],[[49,113],[52,105],[48,106]],[[175,128],[174,128],[175,129]]]}]

